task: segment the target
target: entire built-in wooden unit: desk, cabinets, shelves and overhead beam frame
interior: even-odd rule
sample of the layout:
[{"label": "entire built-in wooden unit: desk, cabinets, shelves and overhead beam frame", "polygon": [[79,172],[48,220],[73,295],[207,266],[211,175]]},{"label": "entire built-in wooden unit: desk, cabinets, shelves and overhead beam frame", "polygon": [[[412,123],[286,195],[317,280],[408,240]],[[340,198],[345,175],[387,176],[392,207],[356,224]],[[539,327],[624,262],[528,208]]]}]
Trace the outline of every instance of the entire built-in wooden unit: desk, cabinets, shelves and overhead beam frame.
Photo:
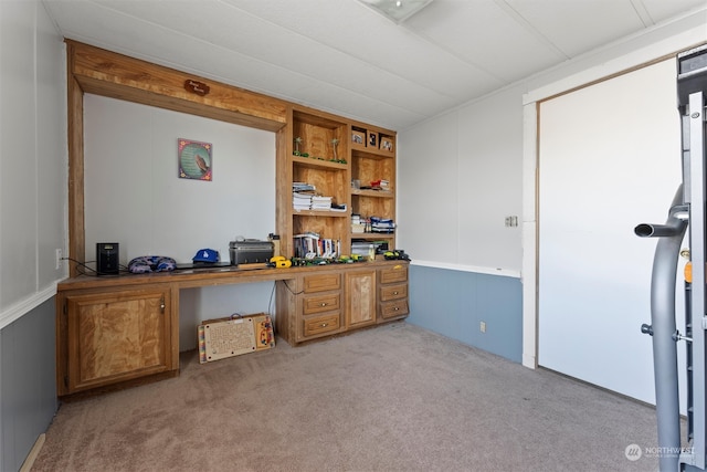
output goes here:
[{"label": "entire built-in wooden unit: desk, cabinets, shelves and overhead beam frame", "polygon": [[[85,44],[67,42],[68,247],[85,254],[83,94],[93,93],[272,130],[276,134],[276,232],[281,254],[294,237],[315,232],[350,254],[354,240],[383,241],[394,232],[352,232],[351,216],[395,218],[395,133],[242,91]],[[138,77],[138,78],[136,78]],[[208,96],[184,94],[203,81]],[[345,211],[295,210],[293,182],[309,182]],[[354,182],[358,186],[354,186]],[[242,282],[277,282],[278,334],[289,344],[344,333],[408,314],[407,262],[155,274],[96,280],[71,265],[57,286],[56,380],[60,397],[179,373],[179,290]],[[98,277],[101,279],[101,277]]]}]

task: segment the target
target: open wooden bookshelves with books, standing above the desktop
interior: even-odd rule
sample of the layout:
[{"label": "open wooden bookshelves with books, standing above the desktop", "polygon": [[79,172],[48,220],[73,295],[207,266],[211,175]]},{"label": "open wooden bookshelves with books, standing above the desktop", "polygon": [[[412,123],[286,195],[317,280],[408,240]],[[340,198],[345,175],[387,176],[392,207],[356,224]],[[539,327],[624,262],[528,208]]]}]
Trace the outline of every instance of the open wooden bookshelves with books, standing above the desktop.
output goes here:
[{"label": "open wooden bookshelves with books, standing above the desktop", "polygon": [[[298,255],[294,238],[306,233],[334,241],[337,255],[350,254],[352,240],[384,241],[394,248],[392,230],[355,233],[351,228],[352,214],[394,221],[394,132],[293,105],[277,143],[276,219],[283,255]],[[381,148],[381,143],[387,146]],[[314,186],[316,195],[346,210],[295,209],[293,182]]]}]

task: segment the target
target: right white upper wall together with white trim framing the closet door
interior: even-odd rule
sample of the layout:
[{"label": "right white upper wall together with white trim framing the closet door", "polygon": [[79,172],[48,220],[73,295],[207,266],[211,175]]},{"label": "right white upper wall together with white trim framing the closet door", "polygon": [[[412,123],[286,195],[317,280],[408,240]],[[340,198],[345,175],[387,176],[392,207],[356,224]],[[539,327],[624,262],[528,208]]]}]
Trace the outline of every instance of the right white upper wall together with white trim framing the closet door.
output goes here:
[{"label": "right white upper wall together with white trim framing the closet door", "polygon": [[[706,31],[707,9],[399,130],[399,245],[413,266],[520,276],[524,365],[537,361],[535,101],[694,46]],[[520,231],[504,227],[510,214]]]}]

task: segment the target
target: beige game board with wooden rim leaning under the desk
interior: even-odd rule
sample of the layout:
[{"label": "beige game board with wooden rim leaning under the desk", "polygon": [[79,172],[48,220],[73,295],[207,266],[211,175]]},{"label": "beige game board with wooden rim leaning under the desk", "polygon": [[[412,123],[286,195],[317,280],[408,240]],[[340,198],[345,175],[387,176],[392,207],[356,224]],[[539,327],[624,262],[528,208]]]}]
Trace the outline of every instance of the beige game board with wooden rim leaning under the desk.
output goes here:
[{"label": "beige game board with wooden rim leaning under the desk", "polygon": [[273,323],[264,313],[201,322],[199,364],[275,347]]}]

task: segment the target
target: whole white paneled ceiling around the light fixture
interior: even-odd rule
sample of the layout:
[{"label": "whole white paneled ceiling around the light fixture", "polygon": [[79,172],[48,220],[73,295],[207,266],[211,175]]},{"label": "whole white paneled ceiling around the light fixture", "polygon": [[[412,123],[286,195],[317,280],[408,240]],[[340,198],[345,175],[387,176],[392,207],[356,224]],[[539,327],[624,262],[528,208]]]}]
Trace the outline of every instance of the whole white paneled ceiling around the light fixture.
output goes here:
[{"label": "whole white paneled ceiling around the light fixture", "polygon": [[402,24],[357,0],[43,3],[66,38],[400,129],[705,0],[434,0]]}]

